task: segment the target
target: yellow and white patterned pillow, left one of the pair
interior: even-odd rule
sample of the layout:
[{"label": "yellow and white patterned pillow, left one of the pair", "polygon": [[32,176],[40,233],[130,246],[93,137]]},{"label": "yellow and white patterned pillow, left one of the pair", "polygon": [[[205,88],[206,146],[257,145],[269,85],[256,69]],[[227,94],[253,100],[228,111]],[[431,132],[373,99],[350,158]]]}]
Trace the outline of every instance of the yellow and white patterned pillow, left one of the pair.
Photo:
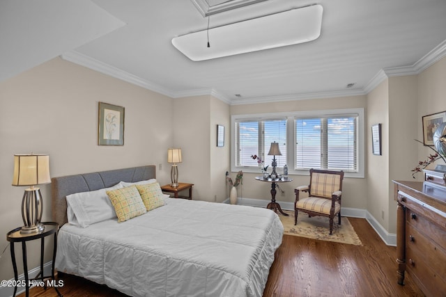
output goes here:
[{"label": "yellow and white patterned pillow, left one of the pair", "polygon": [[113,191],[107,191],[110,201],[112,201],[118,222],[130,220],[135,216],[146,214],[146,207],[141,200],[141,195],[136,186],[118,188]]}]

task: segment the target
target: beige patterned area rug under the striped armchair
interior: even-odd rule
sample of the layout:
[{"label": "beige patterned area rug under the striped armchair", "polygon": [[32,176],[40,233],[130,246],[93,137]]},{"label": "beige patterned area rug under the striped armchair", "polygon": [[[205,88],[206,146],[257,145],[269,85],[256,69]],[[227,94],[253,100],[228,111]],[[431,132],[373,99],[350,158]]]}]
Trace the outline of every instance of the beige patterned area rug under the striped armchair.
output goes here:
[{"label": "beige patterned area rug under the striped armchair", "polygon": [[334,219],[333,234],[330,235],[329,218],[325,216],[309,218],[307,214],[299,212],[298,225],[294,225],[294,211],[284,212],[289,214],[289,216],[279,214],[279,218],[284,225],[284,234],[286,235],[362,246],[359,236],[357,236],[353,226],[346,217],[341,217],[341,225],[337,224],[337,218]]}]

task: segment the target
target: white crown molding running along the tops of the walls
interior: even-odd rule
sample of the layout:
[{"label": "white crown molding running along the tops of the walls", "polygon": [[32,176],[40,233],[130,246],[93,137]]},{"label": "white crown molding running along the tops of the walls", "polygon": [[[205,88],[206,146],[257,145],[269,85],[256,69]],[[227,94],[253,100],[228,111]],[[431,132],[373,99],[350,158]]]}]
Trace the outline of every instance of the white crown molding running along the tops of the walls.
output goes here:
[{"label": "white crown molding running along the tops of the walls", "polygon": [[429,51],[428,54],[424,55],[420,60],[415,62],[413,65],[401,66],[401,67],[387,67],[380,70],[375,76],[366,84],[362,89],[348,89],[348,90],[334,90],[325,92],[314,92],[314,93],[301,93],[293,95],[278,95],[278,96],[268,96],[268,97],[249,97],[241,99],[231,99],[220,93],[214,88],[201,88],[194,90],[181,90],[174,91],[169,90],[163,86],[147,81],[146,79],[141,79],[133,74],[120,70],[116,67],[102,63],[94,58],[80,54],[77,51],[69,51],[61,55],[61,58],[84,67],[88,67],[92,70],[107,74],[116,79],[121,79],[132,83],[141,88],[146,88],[154,92],[166,95],[171,98],[182,98],[182,97],[192,97],[192,96],[203,96],[210,95],[222,102],[229,105],[240,105],[240,104],[259,104],[259,103],[270,103],[279,101],[293,101],[293,100],[307,100],[307,99],[320,99],[320,98],[332,98],[332,97],[348,97],[357,95],[367,95],[374,90],[381,82],[385,81],[389,77],[401,77],[407,75],[420,74],[426,70],[429,66],[433,65],[441,58],[446,56],[446,40],[440,43],[437,47]]}]

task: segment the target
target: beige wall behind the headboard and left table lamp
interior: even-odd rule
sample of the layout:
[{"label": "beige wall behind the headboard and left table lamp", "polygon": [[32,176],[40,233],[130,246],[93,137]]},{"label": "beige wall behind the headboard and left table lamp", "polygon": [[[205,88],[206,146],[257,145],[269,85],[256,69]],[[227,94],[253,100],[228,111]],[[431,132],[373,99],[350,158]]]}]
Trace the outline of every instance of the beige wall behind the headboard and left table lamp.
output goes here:
[{"label": "beige wall behind the headboard and left table lamp", "polygon": [[[125,107],[125,145],[99,146],[98,102]],[[169,182],[167,148],[174,144],[173,99],[54,58],[0,83],[0,248],[6,233],[23,225],[24,187],[11,186],[13,155],[48,153],[52,177],[162,163]],[[50,185],[40,187],[43,220],[51,220]],[[49,247],[51,241],[47,241]],[[19,273],[23,272],[16,245]],[[38,266],[39,242],[28,245],[29,268]],[[52,248],[46,249],[48,252]],[[45,262],[50,260],[46,255]],[[0,279],[13,278],[9,249],[0,259]]]}]

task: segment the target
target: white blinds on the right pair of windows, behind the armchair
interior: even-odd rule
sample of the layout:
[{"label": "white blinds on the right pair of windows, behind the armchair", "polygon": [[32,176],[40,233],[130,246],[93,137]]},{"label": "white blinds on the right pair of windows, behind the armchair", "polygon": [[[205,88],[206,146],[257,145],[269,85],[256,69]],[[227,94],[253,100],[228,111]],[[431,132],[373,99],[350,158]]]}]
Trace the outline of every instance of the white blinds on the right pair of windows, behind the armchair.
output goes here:
[{"label": "white blinds on the right pair of windows, behind the armchair", "polygon": [[357,115],[295,119],[295,169],[357,172]]}]

